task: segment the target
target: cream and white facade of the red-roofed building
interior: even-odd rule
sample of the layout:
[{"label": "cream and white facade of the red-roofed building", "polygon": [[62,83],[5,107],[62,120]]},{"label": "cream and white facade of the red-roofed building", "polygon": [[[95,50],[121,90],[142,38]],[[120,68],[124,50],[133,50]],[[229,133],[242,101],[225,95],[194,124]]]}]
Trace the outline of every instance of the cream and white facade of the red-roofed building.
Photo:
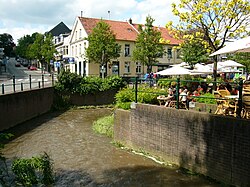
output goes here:
[{"label": "cream and white facade of the red-roofed building", "polygon": [[[68,46],[68,54],[64,54],[64,57],[71,57],[74,62],[66,64],[65,68],[71,72],[76,72],[82,76],[100,75],[100,65],[96,63],[88,63],[88,59],[85,55],[85,49],[88,47],[88,37],[83,24],[79,17],[76,18],[71,34],[64,39],[64,44],[59,48],[59,51],[63,51],[62,48]],[[59,40],[61,41],[61,40]],[[67,43],[68,42],[68,43]],[[117,43],[121,45],[121,55],[119,58],[112,61],[112,65],[109,65],[105,70],[107,75],[120,75],[120,76],[143,76],[146,73],[146,67],[143,64],[132,61],[132,53],[135,47],[135,41],[119,41]],[[176,63],[181,63],[181,59],[178,56],[176,49],[171,44],[166,44],[166,54],[162,58],[159,58],[159,65],[153,66],[153,71],[165,69],[166,66]]]}]

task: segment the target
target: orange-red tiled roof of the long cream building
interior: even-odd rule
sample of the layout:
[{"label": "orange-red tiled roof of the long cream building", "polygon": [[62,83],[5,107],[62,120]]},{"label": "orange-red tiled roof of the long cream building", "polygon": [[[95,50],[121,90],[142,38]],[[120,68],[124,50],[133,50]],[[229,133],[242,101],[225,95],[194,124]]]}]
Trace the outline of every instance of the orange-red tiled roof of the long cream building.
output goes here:
[{"label": "orange-red tiled roof of the long cream building", "polygon": [[[113,30],[113,32],[115,33],[117,40],[135,41],[139,33],[138,31],[139,24],[133,24],[133,23],[131,24],[129,22],[123,22],[123,21],[113,21],[113,20],[104,20],[104,19],[86,18],[86,17],[79,17],[79,20],[82,23],[82,26],[88,35],[92,32],[96,24],[101,20],[110,25],[111,30]],[[155,27],[155,28],[161,31],[162,38],[164,40],[170,41],[170,44],[178,45],[180,43],[180,40],[177,40],[174,37],[172,37],[166,28],[164,27]]]}]

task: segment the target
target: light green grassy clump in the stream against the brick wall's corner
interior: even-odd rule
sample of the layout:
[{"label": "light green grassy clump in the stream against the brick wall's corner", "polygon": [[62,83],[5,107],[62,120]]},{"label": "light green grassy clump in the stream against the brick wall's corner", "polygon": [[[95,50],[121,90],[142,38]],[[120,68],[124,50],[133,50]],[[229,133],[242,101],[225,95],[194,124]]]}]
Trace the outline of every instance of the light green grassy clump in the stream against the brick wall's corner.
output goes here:
[{"label": "light green grassy clump in the stream against the brick wall's corner", "polygon": [[113,138],[114,135],[114,114],[105,116],[93,123],[92,129],[99,133]]}]

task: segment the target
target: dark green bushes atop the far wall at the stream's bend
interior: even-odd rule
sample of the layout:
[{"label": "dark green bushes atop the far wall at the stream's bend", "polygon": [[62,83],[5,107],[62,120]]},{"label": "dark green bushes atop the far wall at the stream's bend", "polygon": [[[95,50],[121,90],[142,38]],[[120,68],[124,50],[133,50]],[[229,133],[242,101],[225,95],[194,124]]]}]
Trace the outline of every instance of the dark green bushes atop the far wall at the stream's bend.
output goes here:
[{"label": "dark green bushes atop the far wall at the stream's bend", "polygon": [[81,77],[70,71],[62,71],[58,76],[55,89],[59,92],[94,94],[96,92],[116,90],[124,87],[125,81],[119,76],[102,79],[100,77]]}]

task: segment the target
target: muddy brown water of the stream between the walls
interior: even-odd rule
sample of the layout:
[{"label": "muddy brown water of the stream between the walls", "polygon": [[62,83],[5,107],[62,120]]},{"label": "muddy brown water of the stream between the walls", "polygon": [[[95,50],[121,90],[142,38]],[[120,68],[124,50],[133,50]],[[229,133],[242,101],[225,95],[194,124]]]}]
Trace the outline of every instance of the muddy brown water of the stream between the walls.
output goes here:
[{"label": "muddy brown water of the stream between the walls", "polygon": [[[4,155],[11,159],[47,152],[54,161],[58,187],[218,186],[114,147],[110,138],[92,131],[93,121],[110,113],[88,109],[41,116],[13,129],[16,138],[6,145]],[[24,129],[29,131],[22,133]]]}]

